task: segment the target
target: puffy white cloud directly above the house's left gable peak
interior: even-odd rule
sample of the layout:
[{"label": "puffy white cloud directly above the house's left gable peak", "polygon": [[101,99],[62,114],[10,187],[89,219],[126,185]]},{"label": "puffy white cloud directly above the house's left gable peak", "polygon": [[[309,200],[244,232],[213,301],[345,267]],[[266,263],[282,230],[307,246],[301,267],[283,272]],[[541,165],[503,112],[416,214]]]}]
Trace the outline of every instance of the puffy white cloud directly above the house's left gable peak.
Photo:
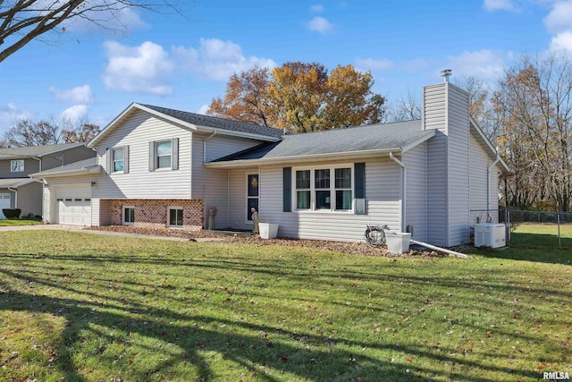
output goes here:
[{"label": "puffy white cloud directly above the house's left gable peak", "polygon": [[116,41],[104,44],[109,62],[102,74],[105,88],[129,92],[169,95],[174,63],[160,45],[146,41],[126,47]]}]

